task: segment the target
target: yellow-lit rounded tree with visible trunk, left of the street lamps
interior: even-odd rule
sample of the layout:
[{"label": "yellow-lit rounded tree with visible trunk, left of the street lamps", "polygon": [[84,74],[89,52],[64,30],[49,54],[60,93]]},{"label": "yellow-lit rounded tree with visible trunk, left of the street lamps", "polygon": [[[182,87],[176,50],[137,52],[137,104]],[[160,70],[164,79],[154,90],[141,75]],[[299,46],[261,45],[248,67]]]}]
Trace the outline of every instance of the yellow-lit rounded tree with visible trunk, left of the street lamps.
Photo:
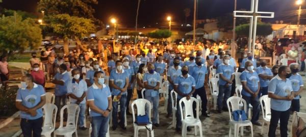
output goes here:
[{"label": "yellow-lit rounded tree with visible trunk, left of the street lamps", "polygon": [[52,15],[47,18],[48,27],[53,33],[64,39],[64,52],[68,53],[68,40],[90,35],[95,31],[95,26],[91,19],[69,16],[68,14]]}]

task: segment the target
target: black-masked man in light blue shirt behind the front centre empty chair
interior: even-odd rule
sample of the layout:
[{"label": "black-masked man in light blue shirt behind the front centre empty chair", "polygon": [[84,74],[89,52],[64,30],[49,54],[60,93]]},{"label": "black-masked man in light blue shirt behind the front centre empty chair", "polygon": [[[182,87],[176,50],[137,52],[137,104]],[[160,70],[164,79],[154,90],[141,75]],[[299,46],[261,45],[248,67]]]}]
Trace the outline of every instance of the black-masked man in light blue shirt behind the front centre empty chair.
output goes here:
[{"label": "black-masked man in light blue shirt behind the front centre empty chair", "polygon": [[[195,92],[195,81],[194,78],[188,74],[188,66],[183,66],[182,75],[174,80],[174,91],[177,93],[176,99],[176,131],[181,131],[182,121],[181,121],[181,109],[180,109],[180,99],[187,97],[190,99],[192,94]],[[190,130],[190,128],[188,129]]]}]

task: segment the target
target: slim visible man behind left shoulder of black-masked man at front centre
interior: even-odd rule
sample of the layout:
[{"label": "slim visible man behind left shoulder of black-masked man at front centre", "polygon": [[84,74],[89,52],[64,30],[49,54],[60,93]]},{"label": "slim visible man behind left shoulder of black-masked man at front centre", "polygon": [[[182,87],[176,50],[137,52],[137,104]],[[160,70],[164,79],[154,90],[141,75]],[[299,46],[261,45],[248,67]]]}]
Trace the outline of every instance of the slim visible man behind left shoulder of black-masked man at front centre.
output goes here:
[{"label": "slim visible man behind left shoulder of black-masked man at front centre", "polygon": [[169,118],[172,115],[172,103],[171,103],[171,90],[174,87],[174,81],[177,77],[179,77],[182,74],[182,67],[180,66],[180,59],[174,58],[173,59],[174,65],[170,66],[167,72],[167,79],[169,81],[169,97],[168,97],[168,106],[167,106],[167,118]]}]

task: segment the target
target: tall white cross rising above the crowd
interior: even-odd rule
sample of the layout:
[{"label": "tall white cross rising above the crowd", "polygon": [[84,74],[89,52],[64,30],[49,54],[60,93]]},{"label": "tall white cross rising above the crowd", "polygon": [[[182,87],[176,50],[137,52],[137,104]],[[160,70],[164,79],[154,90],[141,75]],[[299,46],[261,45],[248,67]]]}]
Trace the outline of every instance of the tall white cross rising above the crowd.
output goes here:
[{"label": "tall white cross rising above the crowd", "polygon": [[[254,45],[256,41],[257,18],[274,18],[274,12],[259,12],[258,11],[258,1],[259,0],[251,0],[251,10],[250,11],[234,11],[234,17],[250,18],[250,29],[249,29],[249,40],[248,40],[249,51],[251,51],[251,46],[253,46],[252,51],[254,51],[255,49]],[[252,15],[237,15],[237,13],[248,13]],[[261,16],[261,15],[258,16],[256,14],[270,14],[270,16]],[[254,52],[253,52],[253,57],[254,57]]]}]

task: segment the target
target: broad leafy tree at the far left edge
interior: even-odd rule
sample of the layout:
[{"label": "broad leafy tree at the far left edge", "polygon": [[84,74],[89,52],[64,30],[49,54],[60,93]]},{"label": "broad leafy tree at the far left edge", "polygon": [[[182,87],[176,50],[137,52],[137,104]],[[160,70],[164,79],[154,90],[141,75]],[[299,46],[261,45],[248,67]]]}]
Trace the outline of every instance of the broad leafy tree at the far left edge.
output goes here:
[{"label": "broad leafy tree at the far left edge", "polygon": [[0,49],[2,52],[25,49],[37,49],[42,36],[39,24],[34,19],[22,19],[20,15],[0,18]]}]

